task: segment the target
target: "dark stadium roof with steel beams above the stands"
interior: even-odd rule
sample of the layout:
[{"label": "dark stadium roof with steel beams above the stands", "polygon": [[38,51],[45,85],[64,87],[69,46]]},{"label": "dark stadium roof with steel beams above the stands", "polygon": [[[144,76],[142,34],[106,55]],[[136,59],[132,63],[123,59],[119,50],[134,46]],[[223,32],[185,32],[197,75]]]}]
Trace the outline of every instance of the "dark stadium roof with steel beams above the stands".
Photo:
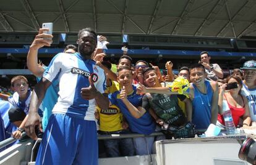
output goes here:
[{"label": "dark stadium roof with steel beams above the stands", "polygon": [[97,33],[241,38],[256,36],[254,0],[8,0],[1,1],[0,31],[54,32],[90,26]]}]

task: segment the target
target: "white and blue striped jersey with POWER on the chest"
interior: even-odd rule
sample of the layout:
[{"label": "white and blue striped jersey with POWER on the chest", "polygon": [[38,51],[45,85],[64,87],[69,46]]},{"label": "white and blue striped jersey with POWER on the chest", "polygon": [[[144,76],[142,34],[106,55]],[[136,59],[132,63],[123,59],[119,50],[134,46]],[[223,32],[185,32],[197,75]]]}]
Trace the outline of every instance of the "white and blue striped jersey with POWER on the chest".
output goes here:
[{"label": "white and blue striped jersey with POWER on the chest", "polygon": [[96,89],[104,93],[105,74],[95,61],[83,58],[78,52],[75,54],[60,53],[51,60],[49,70],[43,77],[51,82],[54,79],[59,81],[59,97],[53,113],[95,121],[95,99],[85,100],[80,94],[82,87],[90,86],[88,81],[90,75],[92,75]]}]

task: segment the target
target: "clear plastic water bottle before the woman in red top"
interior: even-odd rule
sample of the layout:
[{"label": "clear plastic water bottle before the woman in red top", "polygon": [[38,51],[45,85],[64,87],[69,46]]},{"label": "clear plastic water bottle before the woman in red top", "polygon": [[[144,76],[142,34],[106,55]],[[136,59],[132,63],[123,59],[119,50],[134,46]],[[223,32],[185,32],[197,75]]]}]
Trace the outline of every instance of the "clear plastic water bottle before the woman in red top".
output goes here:
[{"label": "clear plastic water bottle before the woman in red top", "polygon": [[228,107],[228,102],[226,100],[223,100],[222,102],[222,109],[223,109],[223,118],[226,126],[226,132],[228,133],[228,135],[236,134],[236,126],[234,125],[231,111]]}]

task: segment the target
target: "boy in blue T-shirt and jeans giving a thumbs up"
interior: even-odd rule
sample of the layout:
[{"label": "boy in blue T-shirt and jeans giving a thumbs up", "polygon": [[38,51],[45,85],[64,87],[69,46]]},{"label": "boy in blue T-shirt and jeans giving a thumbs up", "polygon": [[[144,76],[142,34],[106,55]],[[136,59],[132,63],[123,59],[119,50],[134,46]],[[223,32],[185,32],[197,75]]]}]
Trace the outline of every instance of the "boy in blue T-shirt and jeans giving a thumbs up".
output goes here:
[{"label": "boy in blue T-shirt and jeans giving a thumbs up", "polygon": [[[136,87],[132,84],[132,71],[128,66],[119,66],[117,80],[122,87],[121,91],[109,94],[110,104],[117,105],[126,118],[130,131],[138,134],[149,135],[155,132],[155,122],[150,113],[142,108],[142,95],[137,94]],[[154,137],[134,138],[136,155],[148,155],[152,152]]]}]

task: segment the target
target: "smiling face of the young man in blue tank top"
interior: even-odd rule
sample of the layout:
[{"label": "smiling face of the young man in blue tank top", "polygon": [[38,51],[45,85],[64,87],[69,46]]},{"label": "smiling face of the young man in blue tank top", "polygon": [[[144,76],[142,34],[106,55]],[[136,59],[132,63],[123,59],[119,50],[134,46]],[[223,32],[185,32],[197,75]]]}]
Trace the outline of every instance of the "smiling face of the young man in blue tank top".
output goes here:
[{"label": "smiling face of the young man in blue tank top", "polygon": [[204,84],[207,74],[204,68],[192,68],[190,70],[190,80],[196,85]]}]

